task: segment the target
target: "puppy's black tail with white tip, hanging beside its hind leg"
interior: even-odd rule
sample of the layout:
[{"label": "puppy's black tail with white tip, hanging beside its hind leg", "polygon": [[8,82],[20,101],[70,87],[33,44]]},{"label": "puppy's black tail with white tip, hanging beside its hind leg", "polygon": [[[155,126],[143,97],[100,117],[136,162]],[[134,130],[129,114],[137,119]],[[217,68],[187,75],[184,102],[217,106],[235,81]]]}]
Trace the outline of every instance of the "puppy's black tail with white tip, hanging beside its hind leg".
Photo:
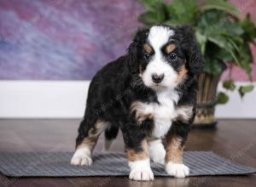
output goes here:
[{"label": "puppy's black tail with white tip, hanging beside its hind leg", "polygon": [[119,133],[119,127],[114,127],[113,125],[110,125],[108,128],[105,130],[105,142],[104,142],[104,147],[103,150],[109,150],[111,147],[111,144],[113,143],[113,139],[117,137]]}]

